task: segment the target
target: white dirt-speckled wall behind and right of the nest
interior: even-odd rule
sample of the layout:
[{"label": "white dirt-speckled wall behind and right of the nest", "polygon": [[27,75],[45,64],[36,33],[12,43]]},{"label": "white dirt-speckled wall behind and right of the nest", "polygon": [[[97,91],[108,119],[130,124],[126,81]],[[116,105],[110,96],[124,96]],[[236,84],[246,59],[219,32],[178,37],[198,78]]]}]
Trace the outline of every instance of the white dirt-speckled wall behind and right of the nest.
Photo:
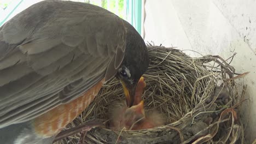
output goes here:
[{"label": "white dirt-speckled wall behind and right of the nest", "polygon": [[252,101],[243,108],[245,113],[251,110],[245,118],[249,121],[246,134],[256,139],[256,1],[147,0],[145,10],[146,41],[223,58],[237,53],[232,62],[236,72],[251,72],[240,82],[248,85]]}]

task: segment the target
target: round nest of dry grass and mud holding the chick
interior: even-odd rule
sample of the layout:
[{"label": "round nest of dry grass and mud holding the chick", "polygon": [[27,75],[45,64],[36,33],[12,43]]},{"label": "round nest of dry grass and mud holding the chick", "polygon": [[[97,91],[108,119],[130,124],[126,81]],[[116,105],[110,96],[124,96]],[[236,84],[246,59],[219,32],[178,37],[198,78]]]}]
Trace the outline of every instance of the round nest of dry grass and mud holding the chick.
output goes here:
[{"label": "round nest of dry grass and mud holding the chick", "polygon": [[[236,74],[219,56],[191,58],[181,50],[161,46],[148,46],[148,51],[151,61],[144,74],[144,108],[164,113],[167,124],[144,130],[96,127],[86,134],[86,143],[243,143],[238,114],[246,87],[238,87],[234,80],[246,73]],[[123,88],[112,79],[67,128],[92,119],[107,125],[109,108],[120,100],[125,100]],[[79,137],[75,134],[58,143],[77,143]]]}]

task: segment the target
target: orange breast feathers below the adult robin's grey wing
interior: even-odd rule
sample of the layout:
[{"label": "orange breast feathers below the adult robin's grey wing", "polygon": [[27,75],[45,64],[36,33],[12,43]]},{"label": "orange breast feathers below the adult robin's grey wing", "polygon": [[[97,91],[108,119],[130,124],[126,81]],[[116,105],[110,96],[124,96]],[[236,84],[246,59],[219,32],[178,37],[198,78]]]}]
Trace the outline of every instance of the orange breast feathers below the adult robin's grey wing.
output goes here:
[{"label": "orange breast feathers below the adult robin's grey wing", "polygon": [[53,136],[82,113],[100,91],[104,79],[73,101],[55,107],[34,120],[37,134]]}]

